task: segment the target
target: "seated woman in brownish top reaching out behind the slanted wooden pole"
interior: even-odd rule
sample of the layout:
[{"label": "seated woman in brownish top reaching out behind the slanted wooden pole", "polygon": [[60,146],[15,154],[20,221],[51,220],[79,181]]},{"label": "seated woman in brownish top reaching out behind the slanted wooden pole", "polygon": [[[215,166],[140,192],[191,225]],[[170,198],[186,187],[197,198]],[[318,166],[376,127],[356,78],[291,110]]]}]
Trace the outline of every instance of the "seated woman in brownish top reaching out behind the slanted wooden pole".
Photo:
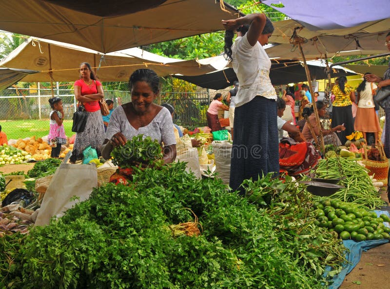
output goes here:
[{"label": "seated woman in brownish top reaching out behind the slanted wooden pole", "polygon": [[[325,112],[326,112],[326,107],[325,107],[324,103],[321,101],[318,101],[318,102],[315,102],[315,106],[317,107],[318,116],[320,118],[324,117]],[[345,130],[345,126],[343,124],[337,125],[337,126],[332,127],[330,129],[323,129],[322,127],[318,128],[317,122],[315,121],[314,112],[309,116],[308,121],[312,125],[312,129],[315,133],[315,136],[313,136],[312,132],[310,131],[309,124],[306,123],[305,126],[303,127],[302,134],[308,142],[314,141],[314,137],[318,138],[320,135],[319,129],[321,129],[325,145],[337,145],[337,146],[341,145],[340,139],[338,138],[336,131]]]}]

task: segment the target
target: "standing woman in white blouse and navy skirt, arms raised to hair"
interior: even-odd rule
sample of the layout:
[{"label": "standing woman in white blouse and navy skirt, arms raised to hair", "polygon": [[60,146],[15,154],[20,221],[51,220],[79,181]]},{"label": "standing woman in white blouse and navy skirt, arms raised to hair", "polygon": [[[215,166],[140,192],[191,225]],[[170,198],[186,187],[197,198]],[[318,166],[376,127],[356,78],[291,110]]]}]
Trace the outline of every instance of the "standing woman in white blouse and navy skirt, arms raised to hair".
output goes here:
[{"label": "standing woman in white blouse and navy skirt, arms raised to hair", "polygon": [[[230,187],[236,190],[245,179],[279,172],[276,92],[269,74],[271,60],[263,45],[273,24],[260,13],[222,20],[226,29],[225,55],[232,61],[240,86],[235,96],[234,136]],[[248,32],[241,27],[249,25]],[[237,38],[233,44],[234,31]]]}]

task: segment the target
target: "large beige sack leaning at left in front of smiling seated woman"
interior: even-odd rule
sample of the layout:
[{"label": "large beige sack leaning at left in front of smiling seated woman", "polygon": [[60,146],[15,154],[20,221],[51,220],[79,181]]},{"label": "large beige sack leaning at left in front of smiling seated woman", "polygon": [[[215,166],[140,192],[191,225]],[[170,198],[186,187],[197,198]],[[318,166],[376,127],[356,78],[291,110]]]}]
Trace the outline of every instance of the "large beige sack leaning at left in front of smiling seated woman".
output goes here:
[{"label": "large beige sack leaning at left in front of smiling seated woman", "polygon": [[[53,216],[62,217],[67,209],[87,200],[96,186],[95,165],[61,164],[43,196],[35,226],[48,225]],[[71,201],[75,195],[78,199]]]}]

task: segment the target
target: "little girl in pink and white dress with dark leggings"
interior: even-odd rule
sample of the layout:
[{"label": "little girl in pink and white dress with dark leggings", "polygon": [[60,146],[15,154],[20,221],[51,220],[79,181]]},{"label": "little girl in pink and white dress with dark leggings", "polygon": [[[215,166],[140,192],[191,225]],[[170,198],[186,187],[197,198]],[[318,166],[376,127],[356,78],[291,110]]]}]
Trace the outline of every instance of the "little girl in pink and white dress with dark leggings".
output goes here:
[{"label": "little girl in pink and white dress with dark leggings", "polygon": [[50,130],[47,137],[47,143],[52,147],[50,157],[58,158],[62,144],[66,144],[65,129],[62,125],[64,121],[64,111],[62,100],[59,97],[49,99],[51,108],[50,112]]}]

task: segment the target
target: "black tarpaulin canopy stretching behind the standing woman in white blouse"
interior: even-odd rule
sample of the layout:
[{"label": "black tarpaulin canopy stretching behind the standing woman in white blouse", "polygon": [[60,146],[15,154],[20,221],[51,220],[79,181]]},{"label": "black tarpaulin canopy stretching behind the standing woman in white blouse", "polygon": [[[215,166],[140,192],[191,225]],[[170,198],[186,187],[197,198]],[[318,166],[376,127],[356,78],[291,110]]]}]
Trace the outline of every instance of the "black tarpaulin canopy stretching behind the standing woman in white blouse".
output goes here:
[{"label": "black tarpaulin canopy stretching behind the standing woman in white blouse", "polygon": [[[308,67],[310,74],[312,75],[312,79],[319,80],[327,78],[327,73],[325,72],[326,64],[324,61],[308,61]],[[331,70],[332,77],[349,76],[355,74],[356,73],[353,71],[337,65],[333,66],[333,69]],[[237,76],[235,75],[233,68],[225,68],[197,76],[173,76],[190,83],[194,83],[201,87],[216,90],[226,88],[237,80]],[[270,79],[274,85],[307,81],[303,63],[296,61],[273,61],[270,70]]]}]

